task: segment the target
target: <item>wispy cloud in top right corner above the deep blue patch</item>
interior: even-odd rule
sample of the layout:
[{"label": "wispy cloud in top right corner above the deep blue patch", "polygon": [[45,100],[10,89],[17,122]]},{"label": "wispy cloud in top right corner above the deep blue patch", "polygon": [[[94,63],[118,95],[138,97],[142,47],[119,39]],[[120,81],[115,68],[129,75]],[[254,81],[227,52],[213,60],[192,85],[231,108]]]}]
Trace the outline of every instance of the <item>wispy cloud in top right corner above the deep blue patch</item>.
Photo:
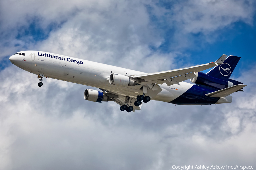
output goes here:
[{"label": "wispy cloud in top right corner above the deep blue patch", "polygon": [[232,0],[185,1],[175,6],[174,18],[187,33],[208,34],[238,21],[252,24],[253,3]]}]

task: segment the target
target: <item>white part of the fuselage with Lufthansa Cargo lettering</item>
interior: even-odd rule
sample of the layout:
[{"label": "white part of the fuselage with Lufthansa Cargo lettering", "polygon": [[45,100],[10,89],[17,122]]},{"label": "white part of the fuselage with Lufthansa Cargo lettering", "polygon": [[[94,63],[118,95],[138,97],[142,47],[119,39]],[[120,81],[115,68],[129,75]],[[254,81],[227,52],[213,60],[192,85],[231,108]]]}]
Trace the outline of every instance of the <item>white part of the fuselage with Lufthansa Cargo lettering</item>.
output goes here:
[{"label": "white part of the fuselage with Lufthansa Cargo lettering", "polygon": [[[112,73],[127,76],[144,74],[140,71],[49,52],[22,51],[19,53],[24,53],[24,56],[15,54],[10,57],[10,61],[16,66],[36,75],[42,74],[49,78],[101,88],[115,92],[120,96],[136,97],[139,94],[143,94],[143,90],[135,89],[133,86],[115,86],[107,80]],[[167,86],[165,83],[159,85],[163,90],[154,96],[153,100],[170,102],[193,86],[193,84],[186,82],[180,82],[179,84],[180,86],[177,84]]]}]

